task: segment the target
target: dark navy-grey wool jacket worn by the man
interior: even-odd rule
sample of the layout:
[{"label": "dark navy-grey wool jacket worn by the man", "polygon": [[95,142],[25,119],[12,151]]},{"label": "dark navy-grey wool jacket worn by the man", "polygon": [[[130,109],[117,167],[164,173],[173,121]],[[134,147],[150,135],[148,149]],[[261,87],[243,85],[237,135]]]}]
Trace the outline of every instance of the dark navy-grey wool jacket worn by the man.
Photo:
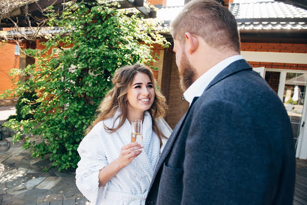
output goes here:
[{"label": "dark navy-grey wool jacket worn by the man", "polygon": [[245,60],[194,99],[166,144],[146,204],[291,205],[294,139],[283,103]]}]

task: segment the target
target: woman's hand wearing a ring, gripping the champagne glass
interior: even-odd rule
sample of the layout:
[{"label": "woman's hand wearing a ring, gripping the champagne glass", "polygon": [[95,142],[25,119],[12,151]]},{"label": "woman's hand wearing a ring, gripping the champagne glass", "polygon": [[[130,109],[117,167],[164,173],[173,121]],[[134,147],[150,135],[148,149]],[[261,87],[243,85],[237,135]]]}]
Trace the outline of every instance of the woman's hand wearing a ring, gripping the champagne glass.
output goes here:
[{"label": "woman's hand wearing a ring, gripping the champagne glass", "polygon": [[139,142],[133,142],[122,146],[120,155],[116,159],[120,169],[126,167],[132,162],[132,160],[134,160],[135,157],[139,156],[142,153],[142,150],[138,149],[141,148],[143,148],[143,146],[141,146]]}]

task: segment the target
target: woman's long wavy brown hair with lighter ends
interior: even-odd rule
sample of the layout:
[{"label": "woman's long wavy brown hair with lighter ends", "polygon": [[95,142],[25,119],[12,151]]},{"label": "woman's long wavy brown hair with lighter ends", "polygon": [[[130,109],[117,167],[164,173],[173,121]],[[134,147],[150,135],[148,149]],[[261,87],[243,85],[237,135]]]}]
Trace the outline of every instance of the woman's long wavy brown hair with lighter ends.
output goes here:
[{"label": "woman's long wavy brown hair with lighter ends", "polygon": [[[152,127],[155,133],[158,135],[160,140],[160,147],[162,146],[162,137],[167,138],[162,131],[158,128],[155,118],[161,118],[166,115],[167,112],[167,104],[165,97],[161,94],[159,90],[156,89],[156,81],[153,77],[153,72],[150,68],[135,64],[133,66],[125,66],[118,69],[113,78],[113,88],[106,94],[98,111],[100,114],[97,119],[93,121],[93,124],[88,127],[87,132],[89,133],[91,129],[100,121],[113,117],[116,110],[119,108],[120,114],[116,117],[115,120],[119,118],[119,124],[117,127],[107,127],[105,125],[104,129],[110,133],[115,132],[122,124],[125,122],[127,118],[127,102],[126,102],[126,94],[128,89],[130,88],[132,81],[134,79],[135,74],[144,73],[149,76],[151,82],[153,83],[153,88],[155,91],[155,99],[150,109],[148,109],[151,119],[152,119]],[[114,121],[115,121],[114,120]]]}]

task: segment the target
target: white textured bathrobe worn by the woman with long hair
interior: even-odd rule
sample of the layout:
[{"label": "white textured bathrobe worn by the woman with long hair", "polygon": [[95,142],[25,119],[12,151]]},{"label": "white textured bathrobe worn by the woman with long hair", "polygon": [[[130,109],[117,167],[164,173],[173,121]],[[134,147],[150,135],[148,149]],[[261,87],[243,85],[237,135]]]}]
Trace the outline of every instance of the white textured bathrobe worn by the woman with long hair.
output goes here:
[{"label": "white textured bathrobe worn by the woman with long hair", "polygon": [[[127,119],[114,133],[104,130],[103,123],[112,127],[114,119],[112,117],[97,123],[80,143],[78,152],[81,160],[76,170],[76,185],[93,204],[144,205],[155,166],[167,140],[162,139],[160,149],[159,138],[152,129],[151,116],[145,111],[142,153],[99,188],[99,171],[114,161],[120,154],[120,148],[131,141],[131,125]],[[118,122],[114,125],[117,126]],[[163,134],[169,137],[171,128],[164,119],[156,119],[156,122]]]}]

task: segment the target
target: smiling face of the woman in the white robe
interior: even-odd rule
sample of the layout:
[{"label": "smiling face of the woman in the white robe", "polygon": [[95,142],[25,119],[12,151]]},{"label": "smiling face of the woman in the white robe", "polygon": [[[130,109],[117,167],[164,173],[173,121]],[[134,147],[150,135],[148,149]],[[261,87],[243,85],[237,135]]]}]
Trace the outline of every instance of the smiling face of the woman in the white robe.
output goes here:
[{"label": "smiling face of the woman in the white robe", "polygon": [[155,99],[153,84],[147,74],[135,74],[126,94],[128,111],[144,112],[150,109]]}]

